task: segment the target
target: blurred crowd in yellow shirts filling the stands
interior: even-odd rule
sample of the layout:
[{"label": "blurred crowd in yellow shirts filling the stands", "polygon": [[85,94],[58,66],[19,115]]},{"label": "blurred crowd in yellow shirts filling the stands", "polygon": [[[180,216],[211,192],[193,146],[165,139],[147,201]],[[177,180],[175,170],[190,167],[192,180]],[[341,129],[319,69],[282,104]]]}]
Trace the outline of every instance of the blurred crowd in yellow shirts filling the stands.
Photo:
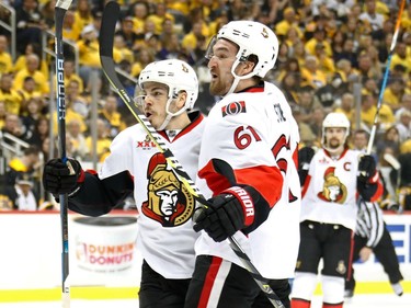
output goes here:
[{"label": "blurred crowd in yellow shirts filling the stands", "polygon": [[[41,43],[45,30],[54,31],[55,2],[4,0],[16,12],[15,59],[10,54],[10,33],[0,27],[0,129],[27,141],[45,159],[57,156],[49,152],[56,149],[50,147],[55,142],[50,136],[57,135],[56,116],[49,113],[49,104],[54,102],[49,81],[54,62],[53,57],[44,56],[45,46]],[[64,37],[79,50],[76,71],[76,57],[65,48],[67,151],[80,160],[104,159],[113,137],[135,122],[112,93],[101,70],[98,38],[103,2],[75,0],[64,21]],[[141,69],[153,60],[183,59],[197,70],[201,81],[197,107],[207,114],[217,99],[208,94],[204,55],[209,39],[228,21],[256,20],[271,26],[281,42],[276,66],[267,79],[279,85],[292,105],[300,125],[301,145],[319,146],[322,119],[332,111],[349,117],[353,136],[354,132],[369,135],[401,0],[118,2],[122,16],[113,56],[118,68],[130,77],[138,78]],[[0,16],[4,21],[10,19],[1,8]],[[46,44],[54,48],[54,42]],[[398,186],[408,196],[411,195],[411,5],[402,13],[390,64],[374,153],[379,164],[386,163],[381,153],[387,148],[398,158],[401,162]],[[90,134],[92,72],[99,77],[96,147],[92,147]],[[134,83],[125,80],[125,85],[133,93]],[[357,85],[359,92],[355,92]],[[52,126],[54,135],[49,134]],[[411,198],[404,198],[402,206],[411,209]],[[13,201],[12,207],[19,206]]]}]

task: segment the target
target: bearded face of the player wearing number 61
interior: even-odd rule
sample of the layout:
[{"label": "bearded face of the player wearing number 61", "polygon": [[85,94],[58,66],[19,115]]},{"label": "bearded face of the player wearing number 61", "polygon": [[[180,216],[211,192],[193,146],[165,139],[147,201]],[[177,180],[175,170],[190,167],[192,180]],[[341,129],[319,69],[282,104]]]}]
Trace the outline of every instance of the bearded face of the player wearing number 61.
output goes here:
[{"label": "bearded face of the player wearing number 61", "polygon": [[238,47],[229,41],[218,39],[213,46],[213,56],[208,68],[212,73],[209,92],[213,95],[225,95],[233,82],[231,73]]}]

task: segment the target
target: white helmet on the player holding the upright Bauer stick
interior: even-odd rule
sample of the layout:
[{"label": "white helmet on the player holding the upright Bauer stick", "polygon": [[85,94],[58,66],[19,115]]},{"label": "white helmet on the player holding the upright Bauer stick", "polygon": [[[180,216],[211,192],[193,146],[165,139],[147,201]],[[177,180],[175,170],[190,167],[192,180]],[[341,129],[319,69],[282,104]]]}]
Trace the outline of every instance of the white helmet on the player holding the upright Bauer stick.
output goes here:
[{"label": "white helmet on the player holding the upright Bauer stick", "polygon": [[[165,104],[167,117],[163,124],[158,128],[165,128],[171,117],[182,114],[186,110],[192,110],[198,98],[198,79],[194,69],[185,61],[179,59],[168,59],[155,61],[147,65],[138,77],[138,83],[135,90],[135,102],[139,107],[144,107],[145,82],[158,82],[169,88],[168,101]],[[184,106],[175,113],[170,112],[170,104],[176,99],[179,92],[185,91],[187,98]]]}]

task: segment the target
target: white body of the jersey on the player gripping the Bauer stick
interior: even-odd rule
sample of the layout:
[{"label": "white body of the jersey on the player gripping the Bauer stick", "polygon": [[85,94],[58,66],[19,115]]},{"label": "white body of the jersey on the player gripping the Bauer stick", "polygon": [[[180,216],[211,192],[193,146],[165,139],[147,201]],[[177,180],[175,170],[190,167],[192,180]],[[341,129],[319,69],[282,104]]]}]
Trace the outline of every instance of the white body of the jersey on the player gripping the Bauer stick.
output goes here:
[{"label": "white body of the jersey on the player gripping the Bauer stick", "polygon": [[[170,142],[163,141],[195,179],[204,117],[198,114]],[[147,263],[165,278],[190,278],[194,270],[193,196],[167,166],[141,125],[126,128],[113,140],[100,179],[128,170],[134,178],[134,197],[139,210],[137,249]]]}]

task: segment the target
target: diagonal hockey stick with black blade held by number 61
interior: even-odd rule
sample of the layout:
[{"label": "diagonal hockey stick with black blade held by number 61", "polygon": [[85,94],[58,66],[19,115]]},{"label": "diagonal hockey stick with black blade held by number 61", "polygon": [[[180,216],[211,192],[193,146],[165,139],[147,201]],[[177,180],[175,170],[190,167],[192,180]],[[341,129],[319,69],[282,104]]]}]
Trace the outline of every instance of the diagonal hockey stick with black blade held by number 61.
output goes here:
[{"label": "diagonal hockey stick with black blade held by number 61", "polygon": [[[159,151],[164,156],[167,162],[172,167],[175,173],[179,175],[179,179],[182,181],[183,185],[190,191],[190,193],[196,198],[197,202],[207,206],[205,197],[201,194],[199,190],[195,186],[194,182],[191,180],[190,175],[184,171],[183,167],[180,164],[178,159],[173,156],[171,150],[162,141],[161,136],[152,127],[148,118],[138,112],[138,109],[135,106],[133,100],[129,98],[128,93],[124,89],[123,84],[118,80],[118,77],[115,72],[115,65],[113,60],[113,39],[115,25],[119,16],[119,5],[115,1],[110,1],[104,7],[102,25],[99,36],[100,45],[100,60],[103,67],[103,71],[111,85],[117,91],[121,99],[127,105],[129,111],[136,117],[136,119],[141,124],[141,126],[147,132],[149,138],[155,142]],[[251,276],[259,285],[259,287],[267,296],[269,300],[276,308],[285,308],[284,305],[278,299],[278,296],[273,292],[273,289],[267,284],[266,280],[259,273],[256,267],[252,264],[250,258],[237,242],[233,237],[229,237],[230,247],[238,258],[243,263],[244,267],[250,272]]]}]

